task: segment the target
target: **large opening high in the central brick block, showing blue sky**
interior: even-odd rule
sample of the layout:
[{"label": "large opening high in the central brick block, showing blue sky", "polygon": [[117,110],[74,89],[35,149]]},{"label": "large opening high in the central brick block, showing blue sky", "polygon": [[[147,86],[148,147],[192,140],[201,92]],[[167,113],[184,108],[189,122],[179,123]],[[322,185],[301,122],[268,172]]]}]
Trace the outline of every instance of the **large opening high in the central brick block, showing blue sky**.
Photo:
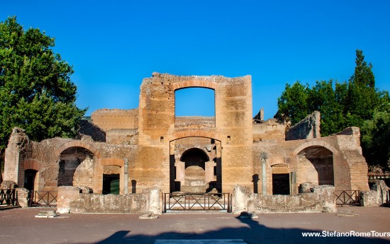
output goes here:
[{"label": "large opening high in the central brick block, showing blue sky", "polygon": [[215,91],[190,87],[174,92],[175,127],[216,127]]}]

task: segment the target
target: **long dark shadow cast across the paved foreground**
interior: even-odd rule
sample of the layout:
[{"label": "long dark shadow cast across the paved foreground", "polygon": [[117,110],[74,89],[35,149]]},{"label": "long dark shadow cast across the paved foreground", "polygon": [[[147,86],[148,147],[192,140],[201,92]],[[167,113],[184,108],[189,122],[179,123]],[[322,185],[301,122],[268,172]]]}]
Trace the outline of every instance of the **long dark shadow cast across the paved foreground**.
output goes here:
[{"label": "long dark shadow cast across the paved foreground", "polygon": [[[240,219],[246,227],[221,228],[218,231],[205,233],[166,232],[155,236],[131,235],[131,231],[117,231],[112,236],[94,244],[108,243],[155,243],[158,239],[196,240],[196,239],[242,239],[248,244],[255,243],[390,243],[390,240],[371,237],[303,237],[303,232],[320,233],[322,231],[305,230],[301,228],[268,228],[252,219]],[[82,244],[82,243],[80,243]],[[83,243],[87,244],[87,243]],[[91,244],[91,243],[89,243]]]}]

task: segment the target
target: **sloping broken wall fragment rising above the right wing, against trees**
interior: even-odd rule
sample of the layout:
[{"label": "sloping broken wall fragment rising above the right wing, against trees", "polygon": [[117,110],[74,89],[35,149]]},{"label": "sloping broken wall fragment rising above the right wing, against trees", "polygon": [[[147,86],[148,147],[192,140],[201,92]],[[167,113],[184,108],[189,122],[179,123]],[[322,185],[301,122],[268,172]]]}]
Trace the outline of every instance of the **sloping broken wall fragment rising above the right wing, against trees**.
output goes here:
[{"label": "sloping broken wall fragment rising above the right wing, against trees", "polygon": [[321,137],[320,124],[320,112],[314,111],[311,115],[289,128],[286,132],[286,141]]}]

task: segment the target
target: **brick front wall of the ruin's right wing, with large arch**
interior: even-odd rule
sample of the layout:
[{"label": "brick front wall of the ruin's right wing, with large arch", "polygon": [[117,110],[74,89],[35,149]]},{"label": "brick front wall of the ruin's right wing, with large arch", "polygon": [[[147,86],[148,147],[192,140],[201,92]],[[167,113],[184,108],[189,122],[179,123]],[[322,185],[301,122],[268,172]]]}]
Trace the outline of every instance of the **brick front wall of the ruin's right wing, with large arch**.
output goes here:
[{"label": "brick front wall of the ruin's right wing, with large arch", "polygon": [[[333,175],[336,190],[369,190],[368,168],[361,153],[358,130],[355,127],[346,129],[350,133],[306,140],[256,142],[252,146],[252,163],[253,175],[258,178],[252,181],[253,188],[262,189],[263,153],[267,156],[264,172],[267,194],[272,194],[273,165],[286,165],[291,174],[291,194],[298,192],[299,184],[311,181],[316,175],[322,180],[318,178],[313,182],[321,185],[328,184],[326,175]],[[319,161],[322,163],[318,164]],[[327,170],[323,170],[324,167]]]}]

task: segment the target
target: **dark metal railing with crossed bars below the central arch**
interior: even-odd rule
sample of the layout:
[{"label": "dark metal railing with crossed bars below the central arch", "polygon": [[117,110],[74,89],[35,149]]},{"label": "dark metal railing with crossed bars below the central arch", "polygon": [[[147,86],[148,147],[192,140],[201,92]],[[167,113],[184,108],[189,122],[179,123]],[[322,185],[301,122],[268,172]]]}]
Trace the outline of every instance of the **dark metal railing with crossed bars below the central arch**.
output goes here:
[{"label": "dark metal railing with crossed bars below the central arch", "polygon": [[164,213],[189,210],[230,212],[230,193],[164,193]]}]

